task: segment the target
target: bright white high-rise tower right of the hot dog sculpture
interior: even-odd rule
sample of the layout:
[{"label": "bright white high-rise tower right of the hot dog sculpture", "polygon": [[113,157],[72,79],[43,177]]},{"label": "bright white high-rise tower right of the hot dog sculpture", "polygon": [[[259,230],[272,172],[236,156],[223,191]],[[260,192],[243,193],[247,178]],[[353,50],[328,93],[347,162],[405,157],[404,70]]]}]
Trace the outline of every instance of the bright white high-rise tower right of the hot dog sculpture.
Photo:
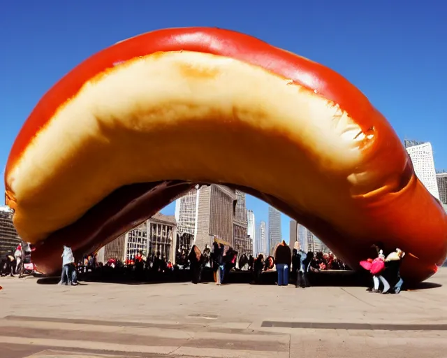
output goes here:
[{"label": "bright white high-rise tower right of the hot dog sculpture", "polygon": [[[416,176],[420,182],[427,188],[427,190],[436,199],[439,200],[439,190],[436,177],[436,170],[434,169],[434,159],[432,144],[430,142],[413,143],[412,141],[405,141],[406,151],[409,153]],[[415,145],[412,145],[415,144]]]}]

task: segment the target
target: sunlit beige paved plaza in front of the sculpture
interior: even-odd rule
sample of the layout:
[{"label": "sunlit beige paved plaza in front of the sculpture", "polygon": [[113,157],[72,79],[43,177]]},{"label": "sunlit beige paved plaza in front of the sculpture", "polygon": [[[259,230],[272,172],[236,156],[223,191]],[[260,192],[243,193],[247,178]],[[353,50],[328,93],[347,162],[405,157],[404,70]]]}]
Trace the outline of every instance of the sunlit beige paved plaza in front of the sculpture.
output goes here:
[{"label": "sunlit beige paved plaza in front of the sculpture", "polygon": [[414,291],[0,278],[1,357],[447,357],[447,269]]}]

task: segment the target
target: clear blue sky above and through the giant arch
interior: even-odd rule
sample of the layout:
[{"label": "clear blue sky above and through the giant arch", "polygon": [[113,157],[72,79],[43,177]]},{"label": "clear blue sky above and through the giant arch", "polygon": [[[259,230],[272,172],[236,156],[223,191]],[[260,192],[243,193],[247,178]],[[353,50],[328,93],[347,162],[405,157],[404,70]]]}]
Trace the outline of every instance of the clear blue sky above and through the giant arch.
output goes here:
[{"label": "clear blue sky above and through the giant arch", "polygon": [[[401,138],[431,141],[447,168],[447,2],[302,0],[11,1],[0,3],[0,167],[22,123],[73,66],[164,27],[242,31],[321,62],[357,85]],[[3,182],[0,189],[3,191]],[[247,198],[256,222],[268,207]],[[173,205],[164,213],[173,213]],[[288,217],[283,216],[284,238]]]}]

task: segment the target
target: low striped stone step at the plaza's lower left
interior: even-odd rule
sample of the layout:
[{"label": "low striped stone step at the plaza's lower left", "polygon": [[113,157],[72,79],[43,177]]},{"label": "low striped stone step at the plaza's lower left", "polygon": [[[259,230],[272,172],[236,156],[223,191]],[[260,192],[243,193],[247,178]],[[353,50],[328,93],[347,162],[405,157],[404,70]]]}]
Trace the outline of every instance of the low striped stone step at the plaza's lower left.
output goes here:
[{"label": "low striped stone step at the plaza's lower left", "polygon": [[196,324],[183,324],[178,328],[170,324],[170,328],[166,328],[167,325],[160,328],[148,322],[112,325],[106,321],[97,324],[85,320],[79,323],[54,321],[47,317],[42,320],[5,317],[0,320],[0,344],[34,345],[51,350],[81,349],[101,355],[142,353],[216,358],[288,357],[290,345],[288,334],[208,331]]}]

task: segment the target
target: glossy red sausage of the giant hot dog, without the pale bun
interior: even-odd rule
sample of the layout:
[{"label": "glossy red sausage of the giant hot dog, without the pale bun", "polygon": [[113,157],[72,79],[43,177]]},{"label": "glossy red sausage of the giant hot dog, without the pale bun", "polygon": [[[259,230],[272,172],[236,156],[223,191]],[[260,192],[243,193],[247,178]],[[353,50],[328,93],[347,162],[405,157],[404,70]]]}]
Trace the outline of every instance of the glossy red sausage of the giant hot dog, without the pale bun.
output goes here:
[{"label": "glossy red sausage of the giant hot dog, without the pale bun", "polygon": [[[357,201],[358,215],[368,217],[371,223],[365,227],[370,235],[363,241],[346,236],[318,217],[297,213],[287,203],[274,197],[245,189],[312,229],[353,267],[358,266],[360,259],[367,259],[372,243],[381,241],[386,245],[386,250],[400,247],[418,257],[414,259],[409,256],[404,260],[402,273],[405,278],[425,280],[436,271],[435,264],[441,264],[447,252],[446,214],[439,202],[417,180],[406,151],[386,119],[355,86],[335,71],[233,31],[214,28],[163,29],[117,43],[82,62],[54,85],[34,108],[10,152],[6,175],[59,106],[75,96],[88,80],[111,69],[118,62],[154,52],[178,50],[233,57],[261,66],[338,103],[364,131],[374,131],[375,141],[364,155],[365,169],[380,169],[381,178],[390,185],[390,190],[385,195],[359,195],[354,199]],[[159,196],[154,196],[154,192],[150,195],[145,194],[144,190],[140,192],[141,187],[117,190],[112,194],[115,195],[113,203],[109,201],[108,206],[99,204],[75,224],[47,238],[36,250],[36,264],[44,266],[46,271],[59,267],[56,257],[62,241],[71,243],[76,252],[98,248],[101,243],[129,229],[129,223],[140,222],[191,187],[188,183],[177,183],[173,189],[168,184],[149,184],[148,187],[154,186]],[[13,199],[8,183],[6,191],[8,200]],[[143,206],[145,210],[141,209]],[[105,210],[105,207],[108,209]],[[421,213],[427,219],[421,220]],[[115,221],[111,221],[112,217]],[[376,230],[378,225],[380,231]],[[386,233],[386,237],[377,237],[376,232]]]}]

